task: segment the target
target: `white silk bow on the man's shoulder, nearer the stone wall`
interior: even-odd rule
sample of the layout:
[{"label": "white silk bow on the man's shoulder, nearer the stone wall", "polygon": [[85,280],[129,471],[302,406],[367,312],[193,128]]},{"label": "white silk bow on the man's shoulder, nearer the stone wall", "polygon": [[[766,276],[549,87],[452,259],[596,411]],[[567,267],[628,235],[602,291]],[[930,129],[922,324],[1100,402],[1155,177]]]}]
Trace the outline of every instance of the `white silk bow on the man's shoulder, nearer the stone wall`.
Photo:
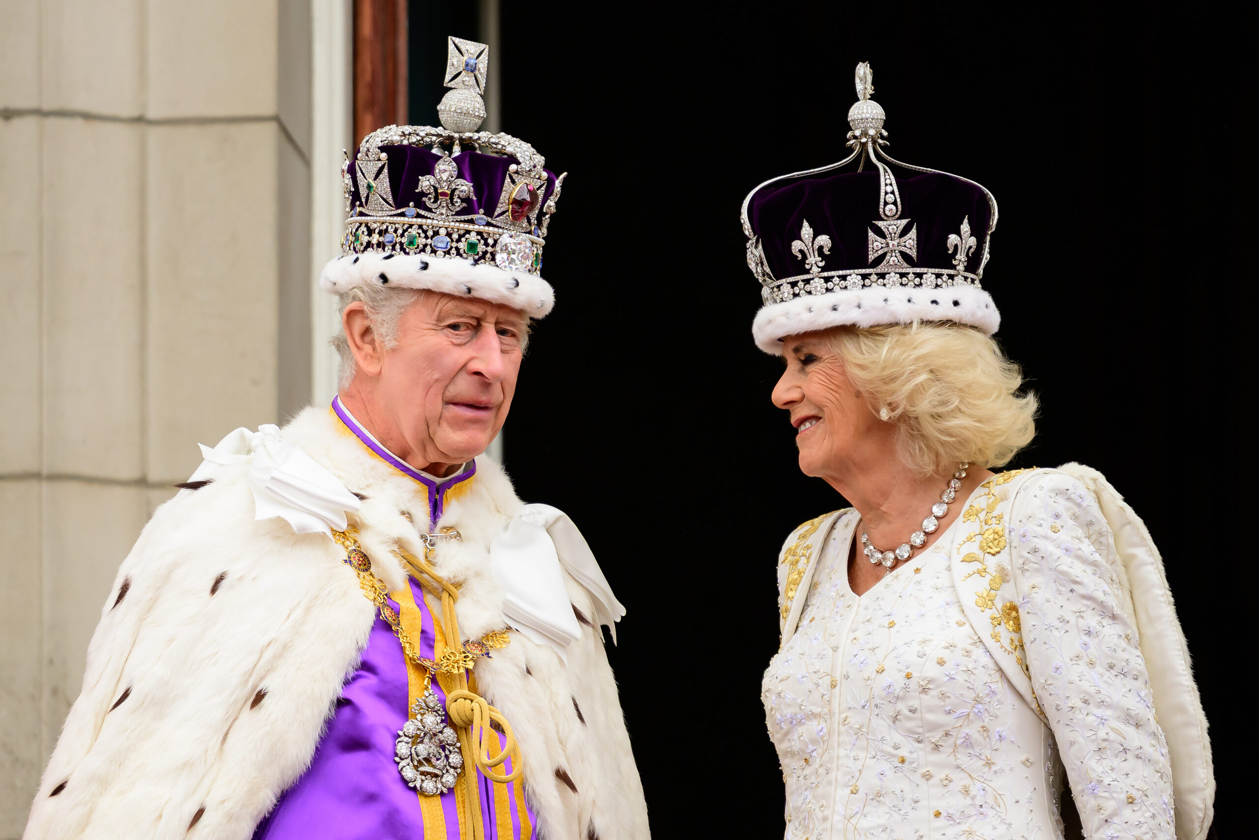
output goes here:
[{"label": "white silk bow on the man's shoulder, nearer the stone wall", "polygon": [[213,450],[204,443],[205,458],[189,481],[213,477],[220,466],[249,465],[249,490],[253,491],[254,519],[282,516],[298,534],[331,529],[345,530],[345,513],[358,513],[358,497],[340,479],[317,463],[298,446],[279,437],[279,428],[264,423],[257,432],[240,427]]}]

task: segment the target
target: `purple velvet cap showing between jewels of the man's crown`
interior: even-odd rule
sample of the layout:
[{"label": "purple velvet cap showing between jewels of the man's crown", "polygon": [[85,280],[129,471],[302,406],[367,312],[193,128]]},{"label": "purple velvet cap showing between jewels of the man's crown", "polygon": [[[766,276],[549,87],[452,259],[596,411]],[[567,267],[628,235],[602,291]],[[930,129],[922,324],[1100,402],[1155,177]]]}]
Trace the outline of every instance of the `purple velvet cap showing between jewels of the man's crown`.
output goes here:
[{"label": "purple velvet cap showing between jewels of the man's crown", "polygon": [[[402,209],[414,203],[415,207],[424,208],[419,179],[433,174],[433,165],[439,160],[439,155],[421,146],[381,146],[380,151],[389,156],[389,189],[394,196],[394,207]],[[460,208],[458,215],[481,213],[494,218],[499,209],[499,196],[502,195],[502,183],[507,179],[507,167],[520,161],[480,151],[461,151],[452,160],[460,170],[460,178],[472,184],[472,195],[465,199],[465,207]],[[546,183],[541,190],[543,200],[538,203],[539,215],[541,207],[554,191],[555,173],[548,169]],[[360,204],[366,204],[361,195],[358,200]]]}]

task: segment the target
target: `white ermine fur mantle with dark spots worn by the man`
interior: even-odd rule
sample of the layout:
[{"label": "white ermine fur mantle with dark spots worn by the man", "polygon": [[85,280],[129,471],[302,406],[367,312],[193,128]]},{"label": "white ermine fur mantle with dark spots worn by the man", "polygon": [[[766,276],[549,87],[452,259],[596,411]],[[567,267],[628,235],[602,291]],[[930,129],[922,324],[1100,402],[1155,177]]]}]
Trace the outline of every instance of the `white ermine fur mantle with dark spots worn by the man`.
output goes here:
[{"label": "white ermine fur mantle with dark spots worn by the man", "polygon": [[[282,436],[365,496],[351,523],[376,573],[390,591],[402,587],[392,550],[422,553],[400,514],[423,521],[417,485],[326,409],[306,409]],[[213,484],[180,492],[123,560],[26,840],[248,840],[310,764],[375,613],[327,536],[295,534],[282,519],[254,521],[246,474],[223,467]],[[463,535],[442,547],[437,570],[461,587],[465,637],[505,623],[488,548],[520,505],[482,456],[472,486],[441,520]],[[585,589],[567,574],[565,583],[574,607],[593,616]],[[481,691],[520,742],[538,836],[648,837],[602,635],[584,626],[568,656],[565,667],[550,649],[512,633],[476,666]]]}]

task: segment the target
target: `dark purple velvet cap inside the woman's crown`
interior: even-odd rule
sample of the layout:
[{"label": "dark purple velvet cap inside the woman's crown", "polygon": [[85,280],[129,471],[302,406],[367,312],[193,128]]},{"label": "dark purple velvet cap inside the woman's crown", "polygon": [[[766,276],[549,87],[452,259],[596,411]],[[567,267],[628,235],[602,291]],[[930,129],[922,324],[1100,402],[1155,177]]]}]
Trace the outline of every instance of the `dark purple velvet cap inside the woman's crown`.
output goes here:
[{"label": "dark purple velvet cap inside the woman's crown", "polygon": [[[845,173],[830,178],[801,178],[771,184],[757,193],[748,204],[752,229],[760,237],[769,271],[778,280],[807,275],[805,261],[792,253],[792,242],[801,238],[801,227],[808,220],[813,237],[831,238],[830,253],[822,271],[865,270],[870,267],[866,230],[883,236],[874,224],[879,219],[879,173]],[[962,219],[969,218],[971,236],[978,243],[966,262],[976,272],[983,256],[992,208],[974,184],[943,173],[923,173],[914,178],[898,178],[901,219],[909,219],[918,230],[918,258],[905,256],[910,266],[920,268],[953,268],[948,251],[949,234],[957,234]],[[881,257],[874,263],[879,264]]]}]

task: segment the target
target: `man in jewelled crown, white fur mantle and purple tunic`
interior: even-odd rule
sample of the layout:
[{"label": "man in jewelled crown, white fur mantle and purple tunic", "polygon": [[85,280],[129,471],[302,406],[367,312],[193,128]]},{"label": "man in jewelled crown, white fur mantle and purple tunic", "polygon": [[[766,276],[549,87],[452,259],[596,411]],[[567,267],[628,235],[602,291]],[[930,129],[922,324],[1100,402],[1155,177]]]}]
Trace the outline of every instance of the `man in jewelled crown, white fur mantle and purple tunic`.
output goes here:
[{"label": "man in jewelled crown, white fur mantle and purple tunic", "polygon": [[451,39],[443,127],[346,162],[340,393],[203,446],[145,528],[28,840],[650,836],[601,631],[624,610],[482,455],[563,183],[476,131],[485,71]]}]

